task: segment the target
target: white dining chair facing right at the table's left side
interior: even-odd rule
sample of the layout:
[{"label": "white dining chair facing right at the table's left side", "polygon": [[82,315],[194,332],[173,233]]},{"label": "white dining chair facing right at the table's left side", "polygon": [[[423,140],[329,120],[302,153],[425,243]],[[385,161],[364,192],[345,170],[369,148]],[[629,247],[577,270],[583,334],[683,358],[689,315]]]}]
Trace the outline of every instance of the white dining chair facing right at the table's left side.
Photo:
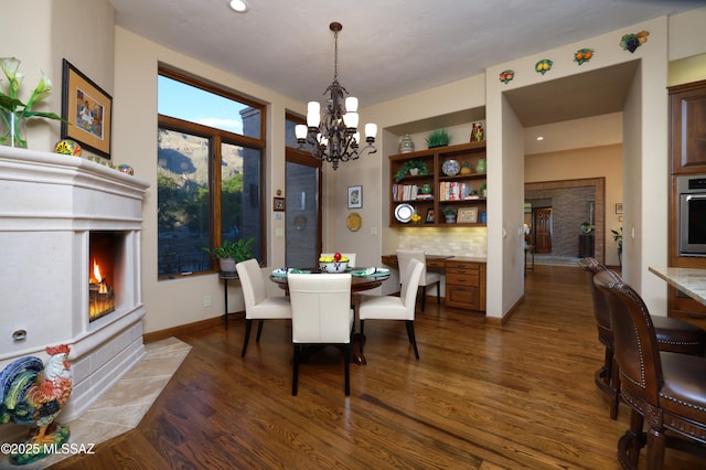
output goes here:
[{"label": "white dining chair facing right at the table's left side", "polygon": [[243,287],[243,298],[245,300],[245,339],[243,340],[243,352],[240,357],[245,357],[247,343],[250,340],[253,320],[259,320],[257,325],[256,342],[260,341],[263,334],[264,320],[291,319],[291,303],[286,296],[268,296],[265,287],[265,279],[260,271],[257,259],[252,258],[235,265]]}]

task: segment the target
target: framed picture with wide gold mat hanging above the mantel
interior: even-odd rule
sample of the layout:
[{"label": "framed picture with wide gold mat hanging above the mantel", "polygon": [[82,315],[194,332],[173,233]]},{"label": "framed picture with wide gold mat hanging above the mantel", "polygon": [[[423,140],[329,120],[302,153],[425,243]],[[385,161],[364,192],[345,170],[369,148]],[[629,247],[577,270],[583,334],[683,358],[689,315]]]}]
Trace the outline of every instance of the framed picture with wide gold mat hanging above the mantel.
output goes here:
[{"label": "framed picture with wide gold mat hanging above the mantel", "polygon": [[64,58],[62,139],[110,158],[113,97]]}]

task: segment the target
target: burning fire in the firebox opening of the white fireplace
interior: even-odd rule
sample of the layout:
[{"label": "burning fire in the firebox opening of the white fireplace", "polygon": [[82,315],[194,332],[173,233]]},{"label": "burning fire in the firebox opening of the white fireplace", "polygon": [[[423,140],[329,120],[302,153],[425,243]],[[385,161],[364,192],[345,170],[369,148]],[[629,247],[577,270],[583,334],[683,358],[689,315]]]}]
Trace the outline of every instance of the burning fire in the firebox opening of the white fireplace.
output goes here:
[{"label": "burning fire in the firebox opening of the white fireplace", "polygon": [[94,321],[115,311],[115,265],[121,235],[92,232],[88,256],[88,320]]}]

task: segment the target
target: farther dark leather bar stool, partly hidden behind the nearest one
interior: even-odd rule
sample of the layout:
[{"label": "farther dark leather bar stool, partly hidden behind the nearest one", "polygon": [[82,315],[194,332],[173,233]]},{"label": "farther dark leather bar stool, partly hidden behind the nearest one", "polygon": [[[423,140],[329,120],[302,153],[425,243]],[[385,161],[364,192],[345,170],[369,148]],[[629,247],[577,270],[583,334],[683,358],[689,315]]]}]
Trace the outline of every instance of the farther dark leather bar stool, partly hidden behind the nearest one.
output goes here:
[{"label": "farther dark leather bar stool, partly hidden behind the nearest one", "polygon": [[[598,341],[606,346],[603,366],[596,371],[595,382],[608,395],[610,418],[617,419],[620,403],[620,371],[614,360],[613,331],[606,292],[595,286],[592,278],[601,271],[609,271],[616,281],[622,282],[622,278],[616,271],[598,263],[596,258],[582,258],[579,260],[579,266],[590,274]],[[652,316],[652,324],[660,351],[704,356],[706,331],[686,321],[660,316]]]}]

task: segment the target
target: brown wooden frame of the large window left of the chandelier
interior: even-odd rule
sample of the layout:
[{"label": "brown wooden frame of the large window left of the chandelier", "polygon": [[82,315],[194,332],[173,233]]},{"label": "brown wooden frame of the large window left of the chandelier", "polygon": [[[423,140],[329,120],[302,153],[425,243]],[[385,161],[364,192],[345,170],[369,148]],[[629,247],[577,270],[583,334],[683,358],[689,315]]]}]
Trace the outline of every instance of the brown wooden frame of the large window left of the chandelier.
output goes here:
[{"label": "brown wooden frame of the large window left of the chandelier", "polygon": [[[265,183],[266,183],[266,163],[267,163],[267,142],[265,140],[265,136],[267,136],[267,106],[263,103],[256,102],[249,97],[243,96],[235,92],[227,90],[223,87],[218,87],[211,82],[205,79],[199,79],[193,76],[186,75],[181,72],[176,72],[172,68],[169,68],[164,65],[159,65],[158,67],[158,76],[164,76],[178,82],[183,83],[184,85],[193,86],[195,88],[203,89],[208,93],[213,93],[215,95],[222,96],[226,99],[233,99],[235,102],[242,103],[244,105],[257,108],[259,110],[259,138],[254,138],[249,136],[244,136],[240,133],[229,132],[227,130],[204,126],[197,122],[192,122],[188,120],[183,120],[180,118],[175,118],[172,116],[165,116],[157,114],[157,126],[159,129],[168,129],[171,131],[185,132],[189,135],[194,135],[199,137],[203,137],[208,140],[210,152],[208,152],[208,226],[210,226],[210,244],[211,247],[220,246],[222,243],[221,234],[221,147],[223,143],[247,147],[250,149],[258,150],[260,152],[260,178],[259,178],[259,204],[260,204],[260,227],[259,227],[259,245],[261,247],[260,253],[260,263],[263,265],[267,265],[267,217],[266,217],[266,209],[267,209],[267,199],[265,196]],[[158,228],[159,236],[159,228]],[[173,279],[176,276],[197,276],[205,274],[217,273],[217,263],[212,260],[211,269],[203,270],[199,273],[193,273],[189,275],[182,274],[165,274],[160,275],[159,279]]]}]

